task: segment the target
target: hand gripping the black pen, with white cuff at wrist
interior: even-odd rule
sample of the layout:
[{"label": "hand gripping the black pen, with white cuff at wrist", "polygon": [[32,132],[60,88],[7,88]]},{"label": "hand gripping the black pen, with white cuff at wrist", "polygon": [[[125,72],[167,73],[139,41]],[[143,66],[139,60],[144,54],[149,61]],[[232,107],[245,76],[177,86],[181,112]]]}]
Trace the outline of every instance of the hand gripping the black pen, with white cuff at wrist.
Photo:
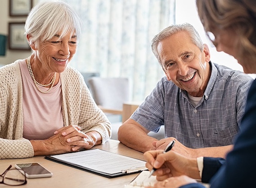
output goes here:
[{"label": "hand gripping the black pen, with white cuff at wrist", "polygon": [[154,168],[156,179],[161,181],[172,176],[187,175],[200,179],[196,158],[184,157],[174,151],[163,153],[163,150],[153,150],[144,153],[146,167],[151,171]]}]

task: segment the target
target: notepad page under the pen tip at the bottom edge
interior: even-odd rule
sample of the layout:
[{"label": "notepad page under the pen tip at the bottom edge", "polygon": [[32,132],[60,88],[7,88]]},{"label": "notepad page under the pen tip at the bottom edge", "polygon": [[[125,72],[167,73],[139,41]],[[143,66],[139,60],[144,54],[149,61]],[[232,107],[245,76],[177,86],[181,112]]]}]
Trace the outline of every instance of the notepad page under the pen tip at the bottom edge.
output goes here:
[{"label": "notepad page under the pen tip at the bottom edge", "polygon": [[156,176],[151,175],[150,178],[148,178],[150,175],[150,171],[142,171],[135,179],[132,180],[132,182],[128,185],[125,185],[125,188],[143,188],[146,186],[153,186],[157,180]]}]

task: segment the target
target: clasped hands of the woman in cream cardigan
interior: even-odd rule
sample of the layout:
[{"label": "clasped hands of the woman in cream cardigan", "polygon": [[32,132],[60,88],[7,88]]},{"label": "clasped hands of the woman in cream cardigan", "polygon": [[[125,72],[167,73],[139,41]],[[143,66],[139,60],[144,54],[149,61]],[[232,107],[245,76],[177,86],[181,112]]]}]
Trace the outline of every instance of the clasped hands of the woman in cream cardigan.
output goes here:
[{"label": "clasped hands of the woman in cream cardigan", "polygon": [[[78,151],[81,148],[90,149],[95,145],[92,136],[80,131],[81,127],[69,125],[68,127],[62,127],[54,132],[55,136],[61,141],[65,140],[66,143],[61,141],[60,144],[69,147],[70,151]],[[54,136],[53,136],[54,137]],[[52,137],[51,137],[52,138]],[[50,139],[51,139],[50,138]]]}]

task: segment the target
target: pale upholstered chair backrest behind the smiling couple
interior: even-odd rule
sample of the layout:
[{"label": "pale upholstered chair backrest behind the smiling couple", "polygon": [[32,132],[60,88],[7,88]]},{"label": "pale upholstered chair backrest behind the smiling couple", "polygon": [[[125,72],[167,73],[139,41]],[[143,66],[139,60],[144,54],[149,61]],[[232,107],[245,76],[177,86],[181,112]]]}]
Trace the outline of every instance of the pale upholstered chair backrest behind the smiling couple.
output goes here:
[{"label": "pale upholstered chair backrest behind the smiling couple", "polygon": [[130,101],[128,78],[91,77],[88,83],[96,104],[103,108],[122,110]]}]

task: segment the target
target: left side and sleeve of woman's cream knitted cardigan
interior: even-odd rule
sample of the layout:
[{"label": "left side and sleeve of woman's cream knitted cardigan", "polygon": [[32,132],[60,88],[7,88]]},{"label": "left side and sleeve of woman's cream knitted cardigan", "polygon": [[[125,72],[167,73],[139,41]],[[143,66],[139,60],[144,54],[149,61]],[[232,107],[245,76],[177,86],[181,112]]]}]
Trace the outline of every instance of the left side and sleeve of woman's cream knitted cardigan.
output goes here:
[{"label": "left side and sleeve of woman's cream knitted cardigan", "polygon": [[32,144],[22,138],[22,80],[18,61],[0,70],[0,159],[34,156]]}]

